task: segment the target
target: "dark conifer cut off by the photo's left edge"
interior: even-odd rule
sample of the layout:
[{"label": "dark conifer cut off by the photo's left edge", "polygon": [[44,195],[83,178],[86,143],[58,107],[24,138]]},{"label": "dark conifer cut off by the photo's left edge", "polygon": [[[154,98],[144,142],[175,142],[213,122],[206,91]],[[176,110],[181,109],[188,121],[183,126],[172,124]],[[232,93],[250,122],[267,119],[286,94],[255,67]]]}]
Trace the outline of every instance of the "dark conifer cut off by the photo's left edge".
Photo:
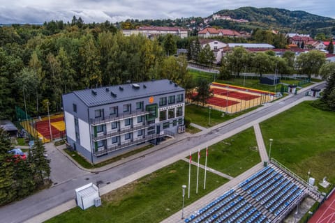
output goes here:
[{"label": "dark conifer cut off by the photo's left edge", "polygon": [[13,190],[15,169],[13,155],[8,153],[10,149],[10,137],[0,128],[0,205],[9,203],[16,197]]}]

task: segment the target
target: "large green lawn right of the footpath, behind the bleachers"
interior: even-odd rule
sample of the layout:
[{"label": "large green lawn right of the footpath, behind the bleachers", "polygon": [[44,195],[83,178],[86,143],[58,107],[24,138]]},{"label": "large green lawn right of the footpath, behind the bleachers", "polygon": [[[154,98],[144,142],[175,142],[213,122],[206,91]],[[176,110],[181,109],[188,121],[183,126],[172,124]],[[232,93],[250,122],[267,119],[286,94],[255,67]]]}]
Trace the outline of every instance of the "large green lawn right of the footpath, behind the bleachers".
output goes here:
[{"label": "large green lawn right of the footpath, behind the bleachers", "polygon": [[[335,183],[335,112],[325,112],[303,102],[261,123],[267,148],[274,139],[271,157],[301,178],[318,184],[327,176]],[[322,187],[319,187],[321,189]]]}]

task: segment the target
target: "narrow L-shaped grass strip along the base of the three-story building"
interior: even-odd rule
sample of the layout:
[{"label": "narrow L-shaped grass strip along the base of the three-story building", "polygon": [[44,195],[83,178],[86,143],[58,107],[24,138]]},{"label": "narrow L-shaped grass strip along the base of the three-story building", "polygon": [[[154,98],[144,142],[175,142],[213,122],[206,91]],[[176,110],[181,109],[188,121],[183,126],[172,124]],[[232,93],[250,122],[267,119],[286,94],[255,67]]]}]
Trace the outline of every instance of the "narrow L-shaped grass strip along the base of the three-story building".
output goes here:
[{"label": "narrow L-shaped grass strip along the base of the three-story building", "polygon": [[103,167],[107,164],[110,164],[112,162],[117,162],[118,160],[121,160],[121,159],[124,159],[126,157],[129,157],[131,155],[134,155],[136,153],[140,153],[142,151],[145,151],[147,150],[148,148],[151,148],[153,147],[154,145],[152,144],[149,144],[147,146],[143,146],[141,148],[137,148],[136,150],[134,151],[130,151],[128,153],[124,153],[122,155],[118,155],[117,157],[113,157],[113,158],[110,158],[109,160],[105,160],[103,162],[99,162],[97,164],[91,164],[90,162],[88,162],[84,157],[82,157],[81,155],[79,155],[77,152],[75,151],[69,151],[68,149],[64,149],[64,151],[66,153],[68,153],[68,155],[70,155],[70,157],[73,158],[73,160],[75,160],[78,164],[80,164],[80,166],[86,168],[86,169],[93,169],[93,168],[98,168],[98,167]]}]

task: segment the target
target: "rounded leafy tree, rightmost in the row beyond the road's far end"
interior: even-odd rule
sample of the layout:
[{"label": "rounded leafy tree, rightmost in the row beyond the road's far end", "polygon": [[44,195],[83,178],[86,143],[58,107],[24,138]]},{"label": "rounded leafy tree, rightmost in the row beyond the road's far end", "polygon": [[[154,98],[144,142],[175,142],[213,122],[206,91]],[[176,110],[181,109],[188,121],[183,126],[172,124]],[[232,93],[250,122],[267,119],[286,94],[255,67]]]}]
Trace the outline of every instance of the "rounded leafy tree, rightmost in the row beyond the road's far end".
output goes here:
[{"label": "rounded leafy tree, rightmost in the row beyond the road's far end", "polygon": [[308,78],[311,78],[311,75],[318,75],[325,61],[324,53],[318,50],[311,50],[297,57],[297,67],[301,74],[306,74]]}]

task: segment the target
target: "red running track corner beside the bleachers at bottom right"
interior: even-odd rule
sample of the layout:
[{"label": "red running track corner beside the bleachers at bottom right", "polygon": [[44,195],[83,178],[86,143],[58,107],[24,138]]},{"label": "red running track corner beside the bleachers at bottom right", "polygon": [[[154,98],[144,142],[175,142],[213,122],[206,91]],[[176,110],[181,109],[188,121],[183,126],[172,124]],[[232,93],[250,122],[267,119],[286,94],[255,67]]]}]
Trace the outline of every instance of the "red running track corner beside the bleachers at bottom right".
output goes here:
[{"label": "red running track corner beside the bleachers at bottom right", "polygon": [[334,223],[335,222],[335,192],[322,203],[321,207],[311,217],[308,223]]}]

